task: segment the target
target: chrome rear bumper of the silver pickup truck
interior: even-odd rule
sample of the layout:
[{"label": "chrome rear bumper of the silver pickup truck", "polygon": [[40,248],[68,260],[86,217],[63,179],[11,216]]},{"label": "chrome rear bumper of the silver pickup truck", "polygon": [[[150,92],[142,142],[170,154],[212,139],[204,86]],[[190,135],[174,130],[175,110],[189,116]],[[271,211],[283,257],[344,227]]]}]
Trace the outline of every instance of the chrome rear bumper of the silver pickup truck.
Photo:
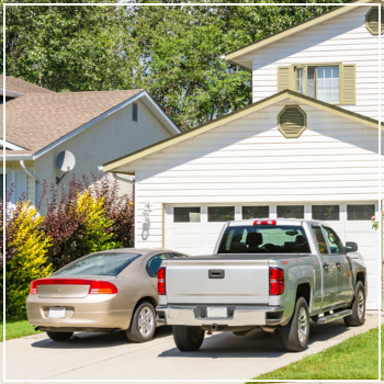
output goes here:
[{"label": "chrome rear bumper of the silver pickup truck", "polygon": [[[218,307],[218,305],[215,305]],[[241,326],[276,326],[281,323],[284,307],[282,306],[251,306],[251,305],[221,305],[227,307],[228,317],[206,317],[207,305],[168,305],[158,306],[157,323],[180,326],[222,325],[228,327]]]}]

